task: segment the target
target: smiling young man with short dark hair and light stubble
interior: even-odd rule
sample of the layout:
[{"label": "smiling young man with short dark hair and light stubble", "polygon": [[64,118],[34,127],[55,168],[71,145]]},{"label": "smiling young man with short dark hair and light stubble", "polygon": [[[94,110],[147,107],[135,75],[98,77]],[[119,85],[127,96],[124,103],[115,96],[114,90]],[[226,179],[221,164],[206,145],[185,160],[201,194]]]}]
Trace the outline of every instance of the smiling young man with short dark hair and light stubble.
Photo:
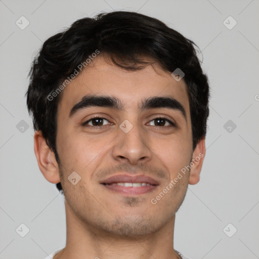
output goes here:
[{"label": "smiling young man with short dark hair and light stubble", "polygon": [[66,246],[48,258],[186,258],[175,214],[209,114],[194,43],[138,13],[80,19],[44,43],[26,94],[39,169],[65,197]]}]

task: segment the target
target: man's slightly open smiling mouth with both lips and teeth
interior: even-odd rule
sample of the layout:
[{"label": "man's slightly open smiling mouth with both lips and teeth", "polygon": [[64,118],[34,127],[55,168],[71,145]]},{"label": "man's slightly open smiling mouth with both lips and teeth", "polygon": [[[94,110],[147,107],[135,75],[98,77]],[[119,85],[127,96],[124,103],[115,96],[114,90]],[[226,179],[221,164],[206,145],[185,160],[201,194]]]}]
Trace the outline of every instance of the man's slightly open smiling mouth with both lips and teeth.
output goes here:
[{"label": "man's slightly open smiling mouth with both lips and teeth", "polygon": [[159,183],[148,176],[118,175],[101,183],[110,191],[125,195],[140,195],[157,188]]}]

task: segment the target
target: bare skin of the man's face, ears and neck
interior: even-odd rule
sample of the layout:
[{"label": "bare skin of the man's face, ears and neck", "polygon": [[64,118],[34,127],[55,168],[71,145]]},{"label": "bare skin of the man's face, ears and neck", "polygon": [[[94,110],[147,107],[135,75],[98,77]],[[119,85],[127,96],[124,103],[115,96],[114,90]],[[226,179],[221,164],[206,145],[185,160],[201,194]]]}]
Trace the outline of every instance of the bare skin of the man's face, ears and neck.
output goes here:
[{"label": "bare skin of the man's face, ears and neck", "polygon": [[[70,118],[70,109],[87,94],[117,97],[124,110],[90,107]],[[154,96],[178,100],[186,110],[187,121],[180,111],[168,108],[140,113],[141,100]],[[107,120],[98,129],[93,120],[89,125],[81,125],[94,115]],[[175,122],[176,126],[167,122],[157,125],[155,115]],[[119,127],[125,119],[133,125],[128,133]],[[188,184],[198,183],[205,156],[204,138],[192,150],[184,80],[176,81],[158,63],[126,71],[102,56],[97,57],[63,90],[57,125],[60,165],[40,131],[34,136],[34,151],[42,174],[53,184],[61,181],[65,195],[67,242],[54,258],[179,258],[173,245],[175,214]],[[203,157],[153,205],[151,199],[199,154]],[[76,185],[67,179],[73,171],[81,177]],[[131,196],[100,184],[125,172],[150,176],[159,180],[160,185],[151,192]]]}]

